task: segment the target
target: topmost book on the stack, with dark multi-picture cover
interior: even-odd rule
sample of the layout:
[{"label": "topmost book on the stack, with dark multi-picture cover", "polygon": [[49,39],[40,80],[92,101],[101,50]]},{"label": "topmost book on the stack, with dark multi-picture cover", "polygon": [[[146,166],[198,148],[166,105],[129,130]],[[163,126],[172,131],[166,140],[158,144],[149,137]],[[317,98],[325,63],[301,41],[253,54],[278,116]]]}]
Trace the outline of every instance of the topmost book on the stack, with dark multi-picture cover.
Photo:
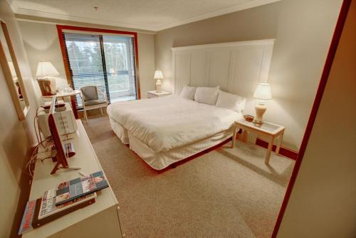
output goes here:
[{"label": "topmost book on the stack, with dark multi-picture cover", "polygon": [[62,205],[66,202],[75,200],[78,197],[83,197],[90,193],[103,190],[105,187],[109,187],[109,184],[103,171],[94,172],[88,176],[62,182],[56,187],[56,205]]}]

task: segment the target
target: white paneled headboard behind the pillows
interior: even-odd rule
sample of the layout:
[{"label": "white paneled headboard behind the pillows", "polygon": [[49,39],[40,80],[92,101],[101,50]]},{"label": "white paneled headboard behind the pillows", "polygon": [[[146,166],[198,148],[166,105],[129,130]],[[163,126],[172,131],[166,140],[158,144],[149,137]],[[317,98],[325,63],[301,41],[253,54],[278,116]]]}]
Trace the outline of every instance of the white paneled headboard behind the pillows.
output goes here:
[{"label": "white paneled headboard behind the pillows", "polygon": [[245,113],[258,82],[266,82],[274,39],[239,41],[172,48],[173,92],[183,86],[220,86],[248,98]]}]

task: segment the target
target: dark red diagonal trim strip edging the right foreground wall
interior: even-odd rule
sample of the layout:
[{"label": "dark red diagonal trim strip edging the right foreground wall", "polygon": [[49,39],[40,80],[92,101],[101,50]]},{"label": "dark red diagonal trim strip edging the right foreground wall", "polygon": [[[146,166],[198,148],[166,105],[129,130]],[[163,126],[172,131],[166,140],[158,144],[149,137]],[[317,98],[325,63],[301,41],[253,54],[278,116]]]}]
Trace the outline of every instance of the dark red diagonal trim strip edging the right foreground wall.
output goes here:
[{"label": "dark red diagonal trim strip edging the right foreground wall", "polygon": [[281,210],[279,211],[279,214],[278,214],[278,217],[277,217],[277,221],[276,221],[276,225],[275,225],[275,227],[273,229],[273,233],[272,233],[272,237],[273,238],[277,237],[278,229],[281,226],[281,222],[282,222],[282,219],[283,219],[284,212],[286,212],[286,207],[288,205],[290,194],[292,193],[293,186],[295,184],[295,180],[296,180],[300,165],[301,165],[302,160],[303,160],[305,149],[307,148],[308,140],[310,138],[310,134],[311,134],[311,131],[313,129],[315,118],[316,118],[316,115],[318,113],[319,105],[320,105],[321,99],[323,98],[323,93],[324,93],[324,90],[325,90],[326,82],[328,81],[328,78],[329,78],[330,69],[331,69],[331,66],[333,65],[335,53],[336,53],[337,46],[338,46],[339,41],[340,41],[342,29],[343,29],[344,24],[345,24],[345,20],[346,20],[346,17],[347,17],[347,12],[350,9],[351,1],[352,0],[344,0],[342,2],[340,14],[339,14],[339,17],[337,19],[337,23],[336,23],[336,26],[335,26],[335,31],[334,31],[334,34],[333,34],[333,39],[332,39],[332,41],[330,43],[328,56],[326,58],[325,66],[324,66],[324,69],[323,69],[323,73],[322,73],[321,78],[320,78],[318,91],[317,91],[317,93],[315,95],[315,100],[314,100],[313,108],[311,110],[310,117],[309,117],[309,120],[308,120],[308,125],[307,125],[307,128],[305,129],[304,137],[303,137],[302,143],[300,145],[299,155],[297,157],[297,160],[295,161],[295,166],[293,168],[293,172],[292,172],[292,175],[290,177],[290,181],[289,181],[289,184],[288,184],[288,187],[287,187],[286,195],[285,195],[285,197],[283,199]]}]

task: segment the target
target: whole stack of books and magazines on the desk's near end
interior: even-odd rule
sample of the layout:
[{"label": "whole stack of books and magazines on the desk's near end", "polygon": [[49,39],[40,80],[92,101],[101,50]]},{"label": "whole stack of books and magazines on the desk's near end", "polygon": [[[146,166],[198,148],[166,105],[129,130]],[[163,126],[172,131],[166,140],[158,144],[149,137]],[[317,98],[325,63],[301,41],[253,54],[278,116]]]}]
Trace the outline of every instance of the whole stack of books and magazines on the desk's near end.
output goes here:
[{"label": "whole stack of books and magazines on the desk's near end", "polygon": [[103,171],[60,183],[55,189],[44,192],[41,198],[27,202],[19,234],[93,204],[96,192],[105,187],[109,185]]}]

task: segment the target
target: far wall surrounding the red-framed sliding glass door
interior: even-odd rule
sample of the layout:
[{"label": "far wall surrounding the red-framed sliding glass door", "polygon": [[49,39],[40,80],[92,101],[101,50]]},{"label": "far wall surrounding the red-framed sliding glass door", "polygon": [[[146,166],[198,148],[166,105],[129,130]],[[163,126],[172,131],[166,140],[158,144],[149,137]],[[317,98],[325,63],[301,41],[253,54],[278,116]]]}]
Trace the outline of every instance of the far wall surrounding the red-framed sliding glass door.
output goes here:
[{"label": "far wall surrounding the red-framed sliding glass door", "polygon": [[[71,22],[61,22],[61,24],[72,25]],[[35,78],[37,64],[39,61],[50,61],[56,67],[60,76],[56,76],[56,84],[59,88],[68,85],[66,71],[64,69],[61,47],[59,46],[56,24],[53,22],[31,22],[19,21],[23,43],[28,54],[29,63]],[[96,26],[88,24],[78,24],[75,26],[85,26],[94,28],[117,29],[112,26]],[[126,30],[126,29],[124,29]],[[154,36],[152,33],[137,33],[139,73],[141,96],[145,98],[147,90],[155,89],[153,75],[155,73],[155,51]],[[38,86],[36,86],[38,98],[41,96]]]}]

